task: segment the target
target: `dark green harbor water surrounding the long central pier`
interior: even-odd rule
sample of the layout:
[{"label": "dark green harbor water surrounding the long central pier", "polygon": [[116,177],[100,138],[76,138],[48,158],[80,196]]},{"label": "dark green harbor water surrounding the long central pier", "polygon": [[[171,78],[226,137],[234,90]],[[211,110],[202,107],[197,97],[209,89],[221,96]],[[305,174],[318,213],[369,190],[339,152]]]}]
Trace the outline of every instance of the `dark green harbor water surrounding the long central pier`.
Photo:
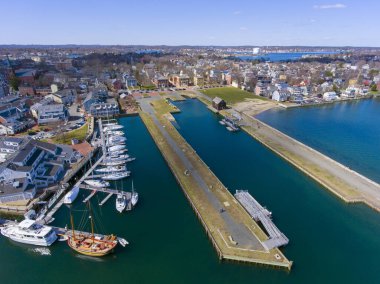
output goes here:
[{"label": "dark green harbor water surrounding the long central pier", "polygon": [[[130,246],[93,259],[65,243],[41,255],[1,237],[1,283],[379,283],[379,214],[345,205],[250,136],[226,131],[197,100],[176,105],[183,111],[176,126],[221,181],[231,191],[249,190],[273,212],[290,239],[283,251],[293,270],[220,263],[140,118],[132,117],[120,121],[137,157],[131,170],[139,204],[118,214],[111,199],[96,210],[106,231]],[[94,207],[101,197],[92,199]],[[81,200],[73,206],[78,223]],[[63,207],[54,224],[67,224],[68,212]]]}]

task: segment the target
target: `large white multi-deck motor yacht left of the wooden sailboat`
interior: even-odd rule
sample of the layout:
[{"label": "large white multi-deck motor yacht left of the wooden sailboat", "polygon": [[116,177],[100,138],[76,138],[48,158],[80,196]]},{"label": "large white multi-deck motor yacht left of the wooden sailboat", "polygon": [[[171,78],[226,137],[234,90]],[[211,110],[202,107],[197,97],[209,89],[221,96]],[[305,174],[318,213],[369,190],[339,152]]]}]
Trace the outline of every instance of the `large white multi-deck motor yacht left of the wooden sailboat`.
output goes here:
[{"label": "large white multi-deck motor yacht left of the wooden sailboat", "polygon": [[13,241],[36,246],[50,246],[57,240],[53,228],[28,219],[6,225],[1,228],[1,234]]}]

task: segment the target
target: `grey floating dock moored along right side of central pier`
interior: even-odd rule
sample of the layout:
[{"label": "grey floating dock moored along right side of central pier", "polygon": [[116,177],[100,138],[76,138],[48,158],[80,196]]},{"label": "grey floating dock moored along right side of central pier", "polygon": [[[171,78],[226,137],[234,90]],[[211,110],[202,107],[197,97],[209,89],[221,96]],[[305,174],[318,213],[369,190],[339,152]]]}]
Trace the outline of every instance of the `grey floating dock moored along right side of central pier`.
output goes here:
[{"label": "grey floating dock moored along right side of central pier", "polygon": [[262,242],[266,249],[270,250],[289,243],[289,239],[273,223],[271,219],[272,213],[262,207],[248,191],[237,190],[235,197],[256,222],[261,222],[266,232],[269,234],[269,240]]}]

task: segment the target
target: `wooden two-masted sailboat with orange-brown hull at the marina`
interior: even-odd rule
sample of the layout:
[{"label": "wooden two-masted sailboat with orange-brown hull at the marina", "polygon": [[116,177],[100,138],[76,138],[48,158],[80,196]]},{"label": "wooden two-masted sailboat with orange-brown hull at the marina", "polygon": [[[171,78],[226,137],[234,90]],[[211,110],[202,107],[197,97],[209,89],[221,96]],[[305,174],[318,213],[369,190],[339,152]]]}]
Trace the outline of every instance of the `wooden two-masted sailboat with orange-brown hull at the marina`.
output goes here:
[{"label": "wooden two-masted sailboat with orange-brown hull at the marina", "polygon": [[114,235],[109,236],[95,236],[94,222],[92,220],[91,205],[88,203],[91,222],[91,235],[84,235],[75,233],[74,219],[70,216],[72,235],[68,236],[67,244],[70,248],[78,253],[88,256],[104,256],[113,251],[117,245],[117,237]]}]

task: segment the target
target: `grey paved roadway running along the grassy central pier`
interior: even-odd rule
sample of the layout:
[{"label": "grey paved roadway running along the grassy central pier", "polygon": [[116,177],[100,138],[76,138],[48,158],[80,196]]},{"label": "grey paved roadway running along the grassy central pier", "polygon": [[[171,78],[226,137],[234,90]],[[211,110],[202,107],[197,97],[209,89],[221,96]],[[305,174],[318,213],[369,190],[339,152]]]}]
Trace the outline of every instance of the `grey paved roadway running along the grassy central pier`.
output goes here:
[{"label": "grey paved roadway running along the grassy central pier", "polygon": [[[198,171],[193,167],[189,159],[183,153],[182,149],[171,138],[171,136],[166,131],[166,129],[161,125],[161,123],[157,119],[157,116],[152,106],[150,105],[151,100],[152,99],[139,100],[141,109],[144,112],[148,113],[153,118],[154,123],[160,130],[161,134],[165,137],[167,143],[174,150],[174,152],[179,156],[179,158],[181,159],[186,169],[190,171],[192,177],[197,182],[199,188],[202,189],[203,192],[206,194],[209,203],[214,207],[214,210],[216,212],[219,212],[221,208],[224,208],[223,204],[210,191],[208,185],[203,180],[203,178],[198,173]],[[240,223],[239,220],[235,220],[234,218],[232,218],[228,211],[224,211],[223,213],[220,213],[220,214],[226,224],[226,227],[229,233],[231,234],[232,238],[236,242],[238,242],[239,247],[247,248],[247,249],[264,250],[260,241],[247,229],[247,227],[244,224]]]}]

